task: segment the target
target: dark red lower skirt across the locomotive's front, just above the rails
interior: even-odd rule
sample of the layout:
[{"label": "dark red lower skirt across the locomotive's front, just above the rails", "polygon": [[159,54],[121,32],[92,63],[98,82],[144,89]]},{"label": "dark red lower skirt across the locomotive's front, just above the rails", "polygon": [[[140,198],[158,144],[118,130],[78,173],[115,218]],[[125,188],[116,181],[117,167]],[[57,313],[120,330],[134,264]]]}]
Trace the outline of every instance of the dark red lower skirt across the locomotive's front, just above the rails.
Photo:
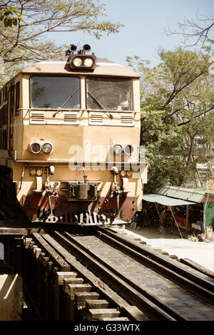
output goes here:
[{"label": "dark red lower skirt across the locomotive's front, just above the rails", "polygon": [[73,225],[112,225],[131,222],[136,212],[137,197],[97,197],[95,202],[68,202],[63,196],[24,196],[23,209],[33,222]]}]

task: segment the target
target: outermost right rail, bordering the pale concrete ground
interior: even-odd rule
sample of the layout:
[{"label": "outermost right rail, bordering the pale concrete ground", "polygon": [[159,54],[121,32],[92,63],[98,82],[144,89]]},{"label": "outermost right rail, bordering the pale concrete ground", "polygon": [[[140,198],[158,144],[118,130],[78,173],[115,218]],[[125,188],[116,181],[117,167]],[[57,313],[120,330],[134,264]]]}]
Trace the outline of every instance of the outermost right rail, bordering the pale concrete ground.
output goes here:
[{"label": "outermost right rail, bordering the pale concrete ground", "polygon": [[153,261],[158,262],[158,264],[162,264],[164,267],[173,270],[173,272],[180,274],[182,277],[185,277],[186,279],[189,279],[191,282],[200,285],[200,287],[207,289],[209,292],[214,293],[213,282],[210,282],[209,280],[200,277],[198,274],[190,272],[190,270],[185,269],[184,267],[180,266],[180,264],[175,264],[175,262],[171,262],[170,259],[163,257],[158,252],[151,250],[142,244],[139,245],[138,242],[130,241],[124,237],[121,237],[118,233],[112,232],[111,230],[108,230],[106,228],[97,226],[96,230],[98,232],[102,232],[108,235],[109,237],[112,237],[113,239],[118,240],[118,242],[125,244],[127,247],[131,247],[131,249],[146,256],[147,259],[148,258],[153,259]]}]

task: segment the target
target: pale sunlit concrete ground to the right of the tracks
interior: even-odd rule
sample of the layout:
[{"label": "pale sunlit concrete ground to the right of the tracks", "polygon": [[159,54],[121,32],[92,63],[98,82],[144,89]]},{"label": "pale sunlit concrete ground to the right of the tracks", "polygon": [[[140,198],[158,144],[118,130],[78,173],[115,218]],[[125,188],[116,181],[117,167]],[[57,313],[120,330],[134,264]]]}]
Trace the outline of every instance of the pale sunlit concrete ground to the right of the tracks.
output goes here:
[{"label": "pale sunlit concrete ground to the right of the tracks", "polygon": [[190,259],[214,274],[214,242],[193,242],[175,234],[159,234],[152,228],[128,228],[127,234],[146,242],[153,249],[161,249],[178,259]]}]

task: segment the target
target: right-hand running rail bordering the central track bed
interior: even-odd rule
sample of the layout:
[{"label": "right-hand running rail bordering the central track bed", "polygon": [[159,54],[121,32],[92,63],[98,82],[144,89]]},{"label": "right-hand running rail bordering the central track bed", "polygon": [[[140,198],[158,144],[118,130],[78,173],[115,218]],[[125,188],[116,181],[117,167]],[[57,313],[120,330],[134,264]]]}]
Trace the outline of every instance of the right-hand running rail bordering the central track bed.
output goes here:
[{"label": "right-hand running rail bordering the central track bed", "polygon": [[[103,231],[101,232],[100,228],[98,228],[98,237],[101,238],[104,242],[111,244],[116,249],[119,249],[121,250],[121,252],[124,252],[128,254],[128,256],[132,257],[133,259],[136,259],[137,262],[140,262],[141,264],[146,265],[146,267],[153,269],[154,271],[168,278],[172,282],[175,282],[175,284],[178,284],[180,287],[183,287],[183,289],[186,289],[188,292],[196,295],[197,297],[200,297],[200,299],[205,300],[206,302],[208,302],[208,304],[212,304],[212,305],[214,304],[214,293],[208,289],[205,289],[202,286],[203,281],[205,281],[205,284],[210,284],[210,285],[207,285],[208,287],[213,288],[212,287],[213,283],[208,282],[205,279],[200,278],[199,276],[195,274],[193,274],[193,276],[190,276],[190,275],[188,276],[188,277],[192,277],[192,280],[190,280],[183,276],[183,274],[184,275],[191,274],[190,272],[188,272],[188,270],[180,269],[181,267],[178,267],[177,269],[176,265],[173,264],[172,262],[168,262],[167,259],[164,259],[165,262],[158,262],[158,257],[156,260],[148,258],[145,255],[141,254],[141,247],[137,248],[136,244],[132,244],[131,242],[129,242],[127,246],[126,239],[124,239],[122,243],[118,239],[116,239],[115,236],[111,237],[110,235],[106,234],[105,229]],[[163,260],[163,257],[161,258]],[[171,269],[168,267],[169,263],[173,265],[171,266]],[[184,271],[182,272],[180,270],[184,270]],[[181,274],[178,273],[179,271],[181,272]],[[202,284],[199,285],[193,282],[194,277],[196,277],[196,279],[201,279],[200,282]]]}]

